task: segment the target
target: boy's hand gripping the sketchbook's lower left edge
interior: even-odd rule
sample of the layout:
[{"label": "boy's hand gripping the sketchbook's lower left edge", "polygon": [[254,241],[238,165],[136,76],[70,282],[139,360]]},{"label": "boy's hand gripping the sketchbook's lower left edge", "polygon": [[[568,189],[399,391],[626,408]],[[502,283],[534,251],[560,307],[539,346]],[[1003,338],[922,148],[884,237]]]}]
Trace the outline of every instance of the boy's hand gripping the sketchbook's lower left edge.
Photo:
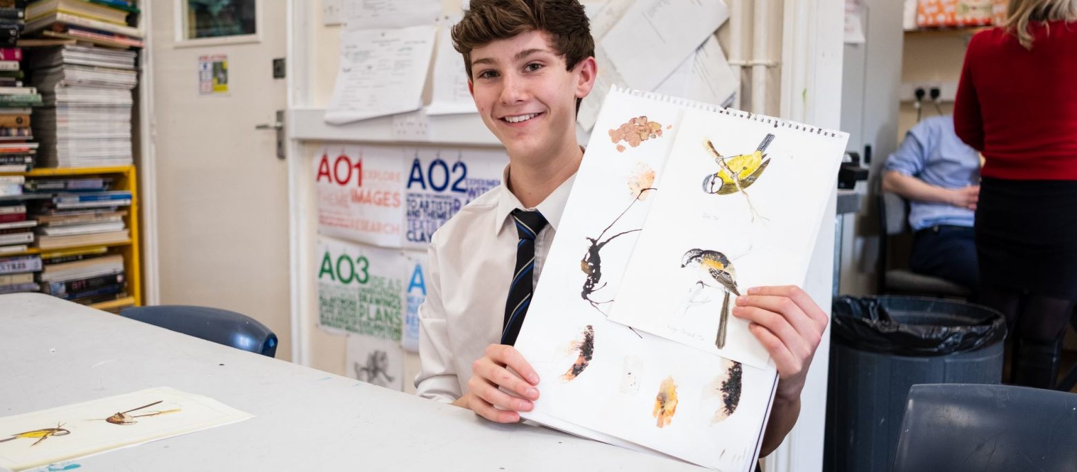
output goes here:
[{"label": "boy's hand gripping the sketchbook's lower left edge", "polygon": [[[517,412],[530,412],[534,407],[532,401],[538,399],[535,385],[538,385],[538,374],[519,351],[505,344],[490,344],[486,356],[472,363],[468,392],[461,397],[463,402],[460,403],[491,421],[516,423],[520,420]],[[500,387],[514,391],[520,398],[502,391]]]}]

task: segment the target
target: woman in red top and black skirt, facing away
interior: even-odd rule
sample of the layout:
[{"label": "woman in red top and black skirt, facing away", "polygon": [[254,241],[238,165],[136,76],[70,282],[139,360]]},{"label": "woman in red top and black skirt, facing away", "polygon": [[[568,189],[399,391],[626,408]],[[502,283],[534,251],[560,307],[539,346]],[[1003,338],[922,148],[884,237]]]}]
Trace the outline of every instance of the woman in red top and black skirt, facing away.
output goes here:
[{"label": "woman in red top and black skirt, facing away", "polygon": [[1010,0],[973,37],[954,128],[984,158],[980,302],[1016,334],[1013,383],[1050,388],[1077,300],[1077,0]]}]

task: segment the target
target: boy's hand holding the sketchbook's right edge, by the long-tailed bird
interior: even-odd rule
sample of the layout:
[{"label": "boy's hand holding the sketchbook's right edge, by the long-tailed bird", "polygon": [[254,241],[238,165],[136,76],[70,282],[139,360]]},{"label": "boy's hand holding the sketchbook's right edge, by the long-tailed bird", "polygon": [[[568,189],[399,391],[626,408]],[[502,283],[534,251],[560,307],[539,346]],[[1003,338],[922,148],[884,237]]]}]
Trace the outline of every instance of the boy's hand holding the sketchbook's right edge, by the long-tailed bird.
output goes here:
[{"label": "boy's hand holding the sketchbook's right edge, by the long-tailed bird", "polygon": [[808,367],[823,339],[829,317],[795,285],[753,287],[737,297],[733,316],[750,321],[749,330],[763,343],[778,368],[782,400],[799,400]]}]

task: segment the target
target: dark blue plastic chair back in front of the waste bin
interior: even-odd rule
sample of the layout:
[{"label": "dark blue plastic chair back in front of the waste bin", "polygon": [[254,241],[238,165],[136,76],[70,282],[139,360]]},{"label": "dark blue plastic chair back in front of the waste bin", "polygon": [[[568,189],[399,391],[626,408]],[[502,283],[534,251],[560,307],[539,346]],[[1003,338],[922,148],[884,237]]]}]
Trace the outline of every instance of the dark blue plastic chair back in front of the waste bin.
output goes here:
[{"label": "dark blue plastic chair back in front of the waste bin", "polygon": [[1077,471],[1077,394],[913,385],[893,472],[923,471]]}]

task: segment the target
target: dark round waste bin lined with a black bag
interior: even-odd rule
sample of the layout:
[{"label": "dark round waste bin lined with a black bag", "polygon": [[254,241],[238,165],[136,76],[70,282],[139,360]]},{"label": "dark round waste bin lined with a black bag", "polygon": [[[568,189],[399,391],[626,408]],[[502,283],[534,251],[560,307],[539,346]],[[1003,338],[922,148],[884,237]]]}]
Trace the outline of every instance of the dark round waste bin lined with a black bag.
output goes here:
[{"label": "dark round waste bin lined with a black bag", "polygon": [[1003,314],[920,297],[839,297],[823,470],[889,472],[913,384],[998,384]]}]

